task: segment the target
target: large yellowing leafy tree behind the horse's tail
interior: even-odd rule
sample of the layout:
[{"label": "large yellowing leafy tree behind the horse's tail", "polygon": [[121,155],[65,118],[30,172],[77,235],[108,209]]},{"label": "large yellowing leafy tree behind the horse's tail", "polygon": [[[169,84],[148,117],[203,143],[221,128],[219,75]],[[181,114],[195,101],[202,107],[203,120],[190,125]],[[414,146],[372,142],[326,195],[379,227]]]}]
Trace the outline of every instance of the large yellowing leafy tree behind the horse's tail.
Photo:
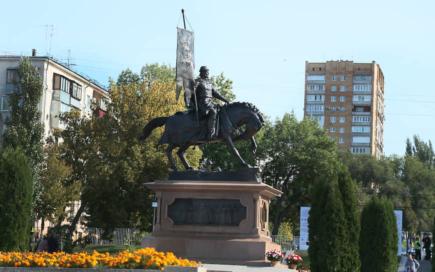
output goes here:
[{"label": "large yellowing leafy tree behind the horse's tail", "polygon": [[[111,82],[107,111],[100,118],[80,119],[77,112],[61,117],[68,125],[61,132],[64,159],[82,182],[80,208],[89,214],[89,224],[151,228],[153,191],[143,182],[164,179],[169,167],[164,147],[156,147],[163,128],[155,129],[145,142],[138,136],[150,119],[183,109],[175,104],[174,81],[152,78],[152,83],[140,85]],[[200,155],[198,149],[186,152],[193,166],[198,166]]]}]

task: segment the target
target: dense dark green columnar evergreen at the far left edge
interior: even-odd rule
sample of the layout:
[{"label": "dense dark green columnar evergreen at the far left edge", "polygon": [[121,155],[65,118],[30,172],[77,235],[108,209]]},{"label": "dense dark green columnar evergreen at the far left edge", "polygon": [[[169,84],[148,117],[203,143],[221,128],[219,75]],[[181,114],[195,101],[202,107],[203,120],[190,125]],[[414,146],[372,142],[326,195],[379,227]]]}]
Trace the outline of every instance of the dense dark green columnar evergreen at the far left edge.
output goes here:
[{"label": "dense dark green columnar evergreen at the far left edge", "polygon": [[0,151],[0,251],[28,249],[32,173],[19,147]]}]

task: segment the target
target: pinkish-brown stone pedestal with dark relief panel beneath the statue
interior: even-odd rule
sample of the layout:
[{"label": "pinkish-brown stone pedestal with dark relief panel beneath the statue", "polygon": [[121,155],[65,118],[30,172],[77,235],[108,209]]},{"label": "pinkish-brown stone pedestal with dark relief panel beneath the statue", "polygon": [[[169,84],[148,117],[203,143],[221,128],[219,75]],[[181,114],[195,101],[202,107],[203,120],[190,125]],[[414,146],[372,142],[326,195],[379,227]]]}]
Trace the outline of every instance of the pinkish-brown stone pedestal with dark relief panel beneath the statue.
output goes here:
[{"label": "pinkish-brown stone pedestal with dark relief panel beneath the statue", "polygon": [[[240,177],[243,170],[246,179],[258,169],[227,172],[226,179]],[[141,247],[204,263],[270,265],[265,252],[280,246],[268,236],[268,205],[281,192],[256,174],[248,181],[222,181],[225,172],[218,173],[220,181],[180,180],[213,179],[212,172],[189,172],[178,180],[145,183],[158,204],[154,231],[142,238]]]}]

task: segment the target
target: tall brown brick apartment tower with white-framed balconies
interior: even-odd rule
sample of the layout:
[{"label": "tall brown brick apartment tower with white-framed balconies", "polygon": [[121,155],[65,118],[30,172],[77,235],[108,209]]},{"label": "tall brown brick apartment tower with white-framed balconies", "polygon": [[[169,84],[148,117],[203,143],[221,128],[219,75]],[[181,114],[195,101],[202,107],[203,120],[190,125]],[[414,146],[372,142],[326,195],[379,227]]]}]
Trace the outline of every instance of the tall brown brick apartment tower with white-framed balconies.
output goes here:
[{"label": "tall brown brick apartment tower with white-framed balconies", "polygon": [[352,153],[383,155],[384,78],[375,61],[305,62],[304,115]]}]

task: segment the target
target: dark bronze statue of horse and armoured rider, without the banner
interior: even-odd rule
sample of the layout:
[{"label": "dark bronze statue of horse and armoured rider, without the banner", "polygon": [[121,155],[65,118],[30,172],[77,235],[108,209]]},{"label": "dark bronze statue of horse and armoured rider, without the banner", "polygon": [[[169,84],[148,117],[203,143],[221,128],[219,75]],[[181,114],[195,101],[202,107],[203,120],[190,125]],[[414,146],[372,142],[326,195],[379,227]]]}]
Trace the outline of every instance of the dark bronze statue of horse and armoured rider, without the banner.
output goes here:
[{"label": "dark bronze statue of horse and armoured rider, without the banner", "polygon": [[[184,93],[187,110],[150,120],[143,128],[139,139],[146,139],[154,128],[165,125],[159,143],[168,144],[166,155],[173,171],[178,171],[172,158],[172,150],[175,147],[178,147],[176,154],[183,166],[187,170],[194,170],[184,156],[187,148],[191,145],[219,141],[225,142],[231,153],[237,157],[240,165],[250,167],[240,157],[233,142],[241,139],[250,140],[250,155],[253,156],[257,148],[253,135],[264,125],[262,113],[251,103],[229,103],[213,88],[208,79],[207,66],[200,67],[199,77],[193,80],[192,85],[193,93],[189,95]],[[213,97],[225,104],[215,104]],[[244,130],[241,128],[243,125]]]}]

